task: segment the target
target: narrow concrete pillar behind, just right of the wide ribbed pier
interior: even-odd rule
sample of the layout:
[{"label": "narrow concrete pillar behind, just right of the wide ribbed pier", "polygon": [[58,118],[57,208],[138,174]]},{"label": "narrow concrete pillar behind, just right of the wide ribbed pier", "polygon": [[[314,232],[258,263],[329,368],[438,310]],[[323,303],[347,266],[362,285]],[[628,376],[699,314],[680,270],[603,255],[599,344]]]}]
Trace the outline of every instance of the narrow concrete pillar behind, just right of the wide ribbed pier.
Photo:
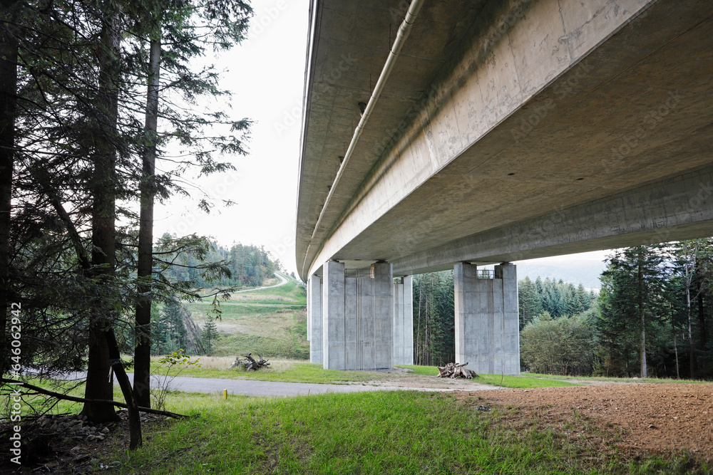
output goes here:
[{"label": "narrow concrete pillar behind, just right of the wide ribbed pier", "polygon": [[394,283],[394,365],[414,364],[414,277]]}]

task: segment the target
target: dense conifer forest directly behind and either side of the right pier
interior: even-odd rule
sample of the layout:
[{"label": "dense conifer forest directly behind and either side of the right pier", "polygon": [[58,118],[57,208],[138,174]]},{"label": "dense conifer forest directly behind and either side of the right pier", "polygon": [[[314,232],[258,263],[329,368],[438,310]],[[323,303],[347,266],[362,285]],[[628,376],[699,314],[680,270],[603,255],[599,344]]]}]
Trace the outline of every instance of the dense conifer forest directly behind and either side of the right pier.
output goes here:
[{"label": "dense conifer forest directly behind and either side of the right pier", "polygon": [[[453,271],[414,276],[414,363],[443,365],[455,361],[456,330],[453,303]],[[536,315],[579,315],[596,301],[587,292],[563,281],[525,277],[518,281],[520,329]]]}]

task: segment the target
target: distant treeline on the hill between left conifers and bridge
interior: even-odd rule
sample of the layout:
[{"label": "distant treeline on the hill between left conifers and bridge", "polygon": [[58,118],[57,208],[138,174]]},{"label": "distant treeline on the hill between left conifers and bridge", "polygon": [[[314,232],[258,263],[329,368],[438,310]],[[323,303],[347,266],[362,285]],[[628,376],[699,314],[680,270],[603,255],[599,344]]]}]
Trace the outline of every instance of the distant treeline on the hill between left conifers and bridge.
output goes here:
[{"label": "distant treeline on the hill between left conifers and bridge", "polygon": [[270,259],[270,253],[264,246],[233,244],[228,247],[219,246],[210,242],[208,251],[204,256],[196,254],[181,254],[175,256],[164,272],[165,276],[174,282],[191,282],[202,287],[209,285],[202,270],[207,264],[222,263],[230,271],[218,278],[213,278],[210,285],[226,287],[262,286],[267,278],[274,278],[275,271],[279,271],[279,259]]}]

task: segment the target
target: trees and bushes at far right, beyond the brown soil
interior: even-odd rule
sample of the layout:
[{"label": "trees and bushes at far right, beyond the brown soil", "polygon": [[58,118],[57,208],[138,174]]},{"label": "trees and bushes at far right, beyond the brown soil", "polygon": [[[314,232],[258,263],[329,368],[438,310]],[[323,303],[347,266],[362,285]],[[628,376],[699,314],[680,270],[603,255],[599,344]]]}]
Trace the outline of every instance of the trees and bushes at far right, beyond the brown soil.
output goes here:
[{"label": "trees and bushes at far right, beyond the brown soil", "polygon": [[713,242],[617,249],[596,306],[543,312],[520,333],[533,372],[620,377],[713,376]]}]

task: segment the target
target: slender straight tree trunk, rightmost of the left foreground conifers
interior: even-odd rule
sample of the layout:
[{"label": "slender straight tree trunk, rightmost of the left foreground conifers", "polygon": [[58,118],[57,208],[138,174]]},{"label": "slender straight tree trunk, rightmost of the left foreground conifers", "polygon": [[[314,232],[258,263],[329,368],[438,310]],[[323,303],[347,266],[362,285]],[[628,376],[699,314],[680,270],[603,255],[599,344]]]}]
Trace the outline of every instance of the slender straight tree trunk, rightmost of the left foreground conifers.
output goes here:
[{"label": "slender straight tree trunk, rightmost of the left foreground conifers", "polygon": [[138,231],[138,301],[136,302],[136,349],[134,391],[138,404],[151,407],[151,276],[153,275],[153,203],[155,197],[156,140],[158,131],[158,88],[161,41],[152,39],[146,93],[146,146],[141,177],[141,210]]}]

